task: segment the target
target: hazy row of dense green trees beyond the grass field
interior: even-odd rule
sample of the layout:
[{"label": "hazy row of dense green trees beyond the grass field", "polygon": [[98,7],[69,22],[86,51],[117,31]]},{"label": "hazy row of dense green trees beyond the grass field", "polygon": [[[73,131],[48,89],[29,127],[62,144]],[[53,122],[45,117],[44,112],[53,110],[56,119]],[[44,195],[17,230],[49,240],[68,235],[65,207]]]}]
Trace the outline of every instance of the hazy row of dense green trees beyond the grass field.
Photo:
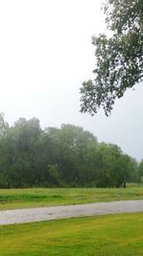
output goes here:
[{"label": "hazy row of dense green trees beyond the grass field", "polygon": [[0,114],[0,188],[125,187],[142,170],[142,162],[83,128],[42,129],[36,118],[10,126]]}]

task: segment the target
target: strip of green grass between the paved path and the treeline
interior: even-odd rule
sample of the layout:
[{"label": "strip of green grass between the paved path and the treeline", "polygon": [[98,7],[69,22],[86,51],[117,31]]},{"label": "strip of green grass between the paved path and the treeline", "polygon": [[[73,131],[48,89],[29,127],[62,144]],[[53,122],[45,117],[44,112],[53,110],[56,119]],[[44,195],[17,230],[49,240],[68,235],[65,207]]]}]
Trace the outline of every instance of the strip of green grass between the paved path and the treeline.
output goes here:
[{"label": "strip of green grass between the paved path and the treeline", "polygon": [[124,199],[143,199],[143,187],[0,190],[0,210]]}]

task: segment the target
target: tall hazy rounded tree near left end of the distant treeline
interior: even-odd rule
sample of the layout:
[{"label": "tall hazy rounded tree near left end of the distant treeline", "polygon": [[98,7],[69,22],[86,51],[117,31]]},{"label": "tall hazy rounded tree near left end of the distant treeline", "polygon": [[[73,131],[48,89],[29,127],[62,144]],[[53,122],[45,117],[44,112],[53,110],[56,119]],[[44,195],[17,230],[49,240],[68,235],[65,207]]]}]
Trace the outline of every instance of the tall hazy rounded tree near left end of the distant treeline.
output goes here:
[{"label": "tall hazy rounded tree near left end of the distant treeline", "polygon": [[10,127],[5,140],[9,156],[10,187],[33,186],[40,179],[37,142],[41,134],[39,120],[20,118]]}]

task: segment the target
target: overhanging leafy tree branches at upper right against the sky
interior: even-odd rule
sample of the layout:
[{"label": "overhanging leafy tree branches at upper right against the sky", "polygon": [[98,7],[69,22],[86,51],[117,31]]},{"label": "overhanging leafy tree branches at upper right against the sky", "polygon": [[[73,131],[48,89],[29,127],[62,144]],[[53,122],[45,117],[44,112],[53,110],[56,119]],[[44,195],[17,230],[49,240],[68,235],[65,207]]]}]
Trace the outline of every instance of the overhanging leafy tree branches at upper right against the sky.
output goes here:
[{"label": "overhanging leafy tree branches at upper right against the sky", "polygon": [[107,0],[108,35],[92,36],[94,80],[81,87],[81,111],[109,115],[116,98],[143,79],[143,0]]}]

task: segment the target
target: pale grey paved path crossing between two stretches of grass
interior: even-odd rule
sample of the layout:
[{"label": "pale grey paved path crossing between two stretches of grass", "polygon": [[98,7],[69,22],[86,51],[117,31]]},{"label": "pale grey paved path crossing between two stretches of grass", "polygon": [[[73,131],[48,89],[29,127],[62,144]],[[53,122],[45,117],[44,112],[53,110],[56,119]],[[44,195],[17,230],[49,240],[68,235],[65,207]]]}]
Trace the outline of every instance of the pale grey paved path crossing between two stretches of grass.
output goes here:
[{"label": "pale grey paved path crossing between two stretches of grass", "polygon": [[143,200],[124,200],[67,206],[17,209],[0,211],[0,225],[136,212],[143,212]]}]

